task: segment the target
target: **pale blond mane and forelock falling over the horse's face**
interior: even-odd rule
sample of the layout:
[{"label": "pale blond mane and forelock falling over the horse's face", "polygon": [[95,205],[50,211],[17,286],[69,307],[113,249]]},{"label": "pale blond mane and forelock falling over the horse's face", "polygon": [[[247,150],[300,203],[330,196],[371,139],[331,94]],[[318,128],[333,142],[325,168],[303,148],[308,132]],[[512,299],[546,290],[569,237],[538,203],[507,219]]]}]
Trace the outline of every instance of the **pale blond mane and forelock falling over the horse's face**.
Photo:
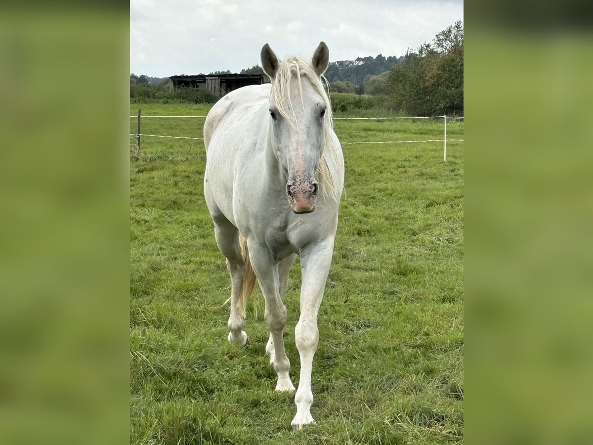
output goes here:
[{"label": "pale blond mane and forelock falling over the horse's face", "polygon": [[[321,98],[323,98],[326,105],[326,113],[323,116],[324,149],[317,167],[317,182],[324,196],[327,197],[330,195],[337,201],[342,190],[336,190],[334,178],[327,166],[327,155],[332,155],[336,159],[337,155],[331,139],[331,134],[333,132],[333,113],[331,112],[329,94],[327,94],[326,88],[324,87],[325,83],[329,90],[329,82],[326,77],[323,74],[318,76],[313,70],[311,63],[305,61],[305,59],[302,59],[299,56],[289,57],[281,61],[278,65],[278,70],[276,71],[272,82],[272,92],[270,93],[270,97],[274,100],[280,115],[288,120],[291,125],[295,125],[300,135],[301,131],[297,120],[294,119],[294,112],[290,111],[293,109],[290,91],[292,79],[296,78],[298,80],[299,90],[301,91],[301,101],[303,101],[301,85],[302,76],[306,76],[310,80],[311,85],[313,85],[315,91],[317,91]],[[328,194],[328,192],[330,193]]]}]

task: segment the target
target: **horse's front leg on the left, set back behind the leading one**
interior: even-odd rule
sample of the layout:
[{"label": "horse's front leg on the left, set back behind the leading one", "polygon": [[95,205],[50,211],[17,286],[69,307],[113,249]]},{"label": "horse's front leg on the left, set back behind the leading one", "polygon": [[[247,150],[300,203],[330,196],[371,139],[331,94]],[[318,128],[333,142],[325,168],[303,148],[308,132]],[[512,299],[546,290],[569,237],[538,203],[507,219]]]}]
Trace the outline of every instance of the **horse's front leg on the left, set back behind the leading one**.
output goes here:
[{"label": "horse's front leg on the left, set back behind the leading one", "polygon": [[273,364],[278,374],[276,391],[293,392],[295,387],[291,382],[289,371],[291,363],[286,357],[284,349],[284,327],[286,326],[286,306],[282,303],[280,295],[280,277],[278,273],[278,262],[272,259],[267,247],[257,243],[248,243],[249,259],[251,266],[256,272],[257,280],[264,299],[266,300],[266,311],[264,317],[267,327],[270,329],[272,345],[274,349]]}]

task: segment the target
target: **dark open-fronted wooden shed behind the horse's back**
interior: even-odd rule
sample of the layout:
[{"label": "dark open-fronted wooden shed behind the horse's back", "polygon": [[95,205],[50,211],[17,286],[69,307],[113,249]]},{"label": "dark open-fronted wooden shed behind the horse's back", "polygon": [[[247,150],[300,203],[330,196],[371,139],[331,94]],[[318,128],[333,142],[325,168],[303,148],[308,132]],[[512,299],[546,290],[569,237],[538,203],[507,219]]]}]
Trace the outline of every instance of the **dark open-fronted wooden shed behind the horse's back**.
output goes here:
[{"label": "dark open-fronted wooden shed behind the horse's back", "polygon": [[[223,96],[229,91],[247,85],[261,85],[264,82],[263,74],[210,74],[198,76],[171,76],[173,89],[198,88],[207,90],[213,96]],[[267,80],[267,76],[266,76]]]}]

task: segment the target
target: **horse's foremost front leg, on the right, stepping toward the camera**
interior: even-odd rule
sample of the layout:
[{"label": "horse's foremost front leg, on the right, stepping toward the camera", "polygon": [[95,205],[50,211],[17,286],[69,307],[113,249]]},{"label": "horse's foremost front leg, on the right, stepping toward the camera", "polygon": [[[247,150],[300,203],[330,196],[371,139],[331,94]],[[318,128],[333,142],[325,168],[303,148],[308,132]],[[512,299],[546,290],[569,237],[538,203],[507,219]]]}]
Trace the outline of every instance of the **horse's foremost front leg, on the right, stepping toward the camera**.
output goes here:
[{"label": "horse's foremost front leg, on the right, stepping toward the camera", "polygon": [[319,342],[317,315],[323,298],[327,274],[333,255],[333,239],[305,247],[301,251],[301,316],[295,328],[295,341],[301,357],[301,378],[299,379],[295,403],[297,415],[292,419],[293,428],[314,423],[311,416],[313,392],[311,391],[311,370],[313,356]]}]

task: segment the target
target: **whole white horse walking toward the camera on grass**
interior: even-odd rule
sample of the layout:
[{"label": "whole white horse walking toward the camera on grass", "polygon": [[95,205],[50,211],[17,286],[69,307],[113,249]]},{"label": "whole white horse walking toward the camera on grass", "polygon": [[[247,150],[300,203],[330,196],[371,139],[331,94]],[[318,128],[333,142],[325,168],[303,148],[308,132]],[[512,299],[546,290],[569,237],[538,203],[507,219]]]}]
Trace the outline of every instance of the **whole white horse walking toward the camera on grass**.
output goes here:
[{"label": "whole white horse walking toward the camera on grass", "polygon": [[342,148],[333,131],[322,75],[329,50],[319,44],[311,62],[279,61],[261,53],[271,84],[232,91],[204,124],[204,195],[216,243],[231,275],[231,342],[246,345],[245,303],[255,279],[266,301],[266,351],[278,373],[276,390],[294,391],[284,349],[288,272],[301,256],[301,316],[295,340],[301,377],[291,424],[313,423],[311,367],[319,341],[317,314],[329,273],[344,182]]}]

